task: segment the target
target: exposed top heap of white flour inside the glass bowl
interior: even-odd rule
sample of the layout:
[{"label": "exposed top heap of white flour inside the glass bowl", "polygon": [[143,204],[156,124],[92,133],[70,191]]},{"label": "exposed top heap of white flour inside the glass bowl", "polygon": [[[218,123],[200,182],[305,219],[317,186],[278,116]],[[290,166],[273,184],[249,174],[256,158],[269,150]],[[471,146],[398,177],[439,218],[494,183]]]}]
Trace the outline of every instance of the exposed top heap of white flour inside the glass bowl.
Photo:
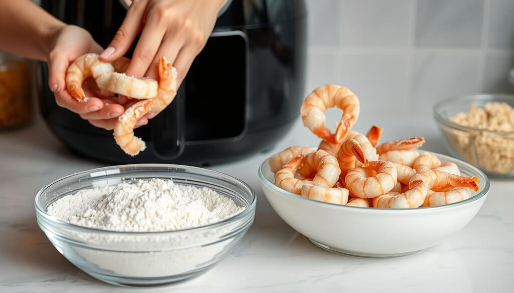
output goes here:
[{"label": "exposed top heap of white flour inside the glass bowl", "polygon": [[80,226],[150,232],[205,226],[243,209],[207,187],[152,179],[81,190],[52,203],[47,211]]}]

